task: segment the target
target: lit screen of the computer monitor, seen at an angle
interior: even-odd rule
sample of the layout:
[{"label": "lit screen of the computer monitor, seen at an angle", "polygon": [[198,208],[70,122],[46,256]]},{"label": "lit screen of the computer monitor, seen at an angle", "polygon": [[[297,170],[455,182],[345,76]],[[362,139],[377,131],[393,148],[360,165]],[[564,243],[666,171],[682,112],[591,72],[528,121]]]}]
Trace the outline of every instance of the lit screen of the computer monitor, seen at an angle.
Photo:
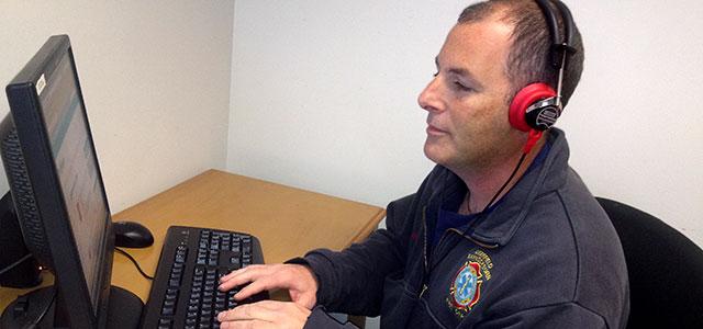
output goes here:
[{"label": "lit screen of the computer monitor, seen at an angle", "polygon": [[43,77],[41,109],[94,314],[108,206],[69,54],[64,54],[48,78]]}]

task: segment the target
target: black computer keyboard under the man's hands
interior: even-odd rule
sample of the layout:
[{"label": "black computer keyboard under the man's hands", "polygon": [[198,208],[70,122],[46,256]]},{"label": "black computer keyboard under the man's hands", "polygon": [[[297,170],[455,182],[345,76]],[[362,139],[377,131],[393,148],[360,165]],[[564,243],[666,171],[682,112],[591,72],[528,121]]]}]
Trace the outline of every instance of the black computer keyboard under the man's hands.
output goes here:
[{"label": "black computer keyboard under the man's hands", "polygon": [[259,263],[264,263],[261,245],[252,235],[169,227],[144,307],[142,328],[220,328],[220,311],[268,298],[268,294],[261,293],[236,302],[233,296],[238,290],[220,292],[220,277]]}]

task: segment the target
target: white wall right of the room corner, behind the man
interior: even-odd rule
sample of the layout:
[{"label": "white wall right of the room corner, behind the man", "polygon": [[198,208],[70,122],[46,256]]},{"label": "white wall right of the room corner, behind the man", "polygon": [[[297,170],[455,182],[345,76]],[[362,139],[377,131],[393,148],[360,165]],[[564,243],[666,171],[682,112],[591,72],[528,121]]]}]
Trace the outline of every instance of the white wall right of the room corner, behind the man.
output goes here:
[{"label": "white wall right of the room corner, behind the man", "polygon": [[[414,192],[415,99],[468,3],[236,1],[227,168],[377,205]],[[559,124],[572,167],[703,246],[703,3],[567,3],[587,49]]]}]

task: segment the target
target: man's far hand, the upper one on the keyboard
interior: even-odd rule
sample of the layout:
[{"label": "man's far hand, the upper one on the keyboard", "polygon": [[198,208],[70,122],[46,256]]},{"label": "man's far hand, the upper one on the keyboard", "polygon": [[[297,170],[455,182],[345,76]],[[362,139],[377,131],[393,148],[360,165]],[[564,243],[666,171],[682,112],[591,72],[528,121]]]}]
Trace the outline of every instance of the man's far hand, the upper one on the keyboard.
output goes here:
[{"label": "man's far hand, the upper one on the keyboard", "polygon": [[[244,285],[234,299],[242,300],[263,291],[288,290],[297,304],[312,309],[317,302],[317,280],[310,268],[299,264],[248,265],[220,279],[220,291]],[[238,308],[238,307],[237,307]]]}]

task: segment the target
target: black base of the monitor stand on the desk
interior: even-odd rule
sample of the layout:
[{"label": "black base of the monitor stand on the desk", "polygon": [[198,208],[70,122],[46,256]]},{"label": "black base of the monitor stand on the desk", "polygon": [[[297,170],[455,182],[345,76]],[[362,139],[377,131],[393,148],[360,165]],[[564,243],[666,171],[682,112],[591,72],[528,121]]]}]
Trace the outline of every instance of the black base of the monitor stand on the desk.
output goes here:
[{"label": "black base of the monitor stand on the desk", "polygon": [[[57,328],[54,326],[55,321],[67,324],[67,319],[56,318],[62,316],[55,314],[56,300],[53,300],[54,297],[54,286],[43,287],[19,296],[2,313],[0,328],[48,329]],[[107,328],[138,328],[143,308],[144,303],[135,294],[118,286],[111,286]],[[42,313],[46,314],[42,317]],[[42,321],[34,324],[38,318],[42,318]],[[63,326],[59,325],[58,328],[63,328]]]}]

